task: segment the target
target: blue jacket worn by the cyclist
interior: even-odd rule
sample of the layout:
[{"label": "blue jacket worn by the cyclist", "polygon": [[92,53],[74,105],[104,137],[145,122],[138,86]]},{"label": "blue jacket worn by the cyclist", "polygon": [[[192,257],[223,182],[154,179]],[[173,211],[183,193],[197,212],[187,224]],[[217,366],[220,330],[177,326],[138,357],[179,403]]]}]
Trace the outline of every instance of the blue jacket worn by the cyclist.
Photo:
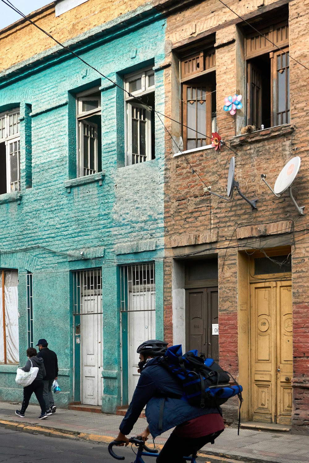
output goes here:
[{"label": "blue jacket worn by the cyclist", "polygon": [[[186,400],[181,399],[183,388],[175,377],[160,365],[161,359],[162,357],[152,358],[142,370],[126,416],[119,427],[123,434],[132,431],[146,404],[146,419],[153,438],[189,419],[208,413],[219,413],[216,407],[192,407]],[[163,421],[159,423],[162,416]]]}]

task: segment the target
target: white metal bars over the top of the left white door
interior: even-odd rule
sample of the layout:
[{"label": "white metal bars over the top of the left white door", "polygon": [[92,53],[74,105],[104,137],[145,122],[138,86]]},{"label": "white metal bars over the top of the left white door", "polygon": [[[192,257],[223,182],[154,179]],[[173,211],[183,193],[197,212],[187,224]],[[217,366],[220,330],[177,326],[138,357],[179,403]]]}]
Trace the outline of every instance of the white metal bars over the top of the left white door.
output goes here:
[{"label": "white metal bars over the top of the left white door", "polygon": [[81,270],[73,273],[74,315],[102,313],[102,270]]}]

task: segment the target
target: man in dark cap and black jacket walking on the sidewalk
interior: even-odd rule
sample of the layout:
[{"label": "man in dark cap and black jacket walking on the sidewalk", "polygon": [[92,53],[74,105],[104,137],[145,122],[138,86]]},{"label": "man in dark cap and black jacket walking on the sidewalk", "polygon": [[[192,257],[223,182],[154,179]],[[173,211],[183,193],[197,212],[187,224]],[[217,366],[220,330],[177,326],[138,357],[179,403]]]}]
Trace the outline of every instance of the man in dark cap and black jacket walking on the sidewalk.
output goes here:
[{"label": "man in dark cap and black jacket walking on the sidewalk", "polygon": [[48,348],[48,342],[46,339],[38,340],[38,357],[43,359],[46,375],[43,378],[44,390],[43,397],[46,404],[46,414],[51,415],[56,412],[56,406],[54,403],[54,397],[51,392],[52,383],[57,380],[58,377],[58,359],[57,355],[53,350]]}]

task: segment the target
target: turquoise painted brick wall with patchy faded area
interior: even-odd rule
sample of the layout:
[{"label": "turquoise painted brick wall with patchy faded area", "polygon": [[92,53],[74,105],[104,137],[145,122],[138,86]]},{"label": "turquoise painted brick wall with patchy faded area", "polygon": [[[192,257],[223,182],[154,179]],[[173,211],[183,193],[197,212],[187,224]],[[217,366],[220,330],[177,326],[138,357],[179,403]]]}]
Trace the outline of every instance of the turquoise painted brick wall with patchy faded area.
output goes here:
[{"label": "turquoise painted brick wall with patchy faded area", "polygon": [[[139,13],[136,18],[135,13]],[[126,15],[130,21],[123,22],[121,29],[107,24],[105,35],[81,41],[76,52],[120,85],[124,74],[152,64],[156,68],[155,105],[164,113],[160,64],[165,57],[165,21],[155,11],[145,17],[141,13]],[[35,62],[37,58],[42,59]],[[119,265],[156,262],[156,331],[158,337],[163,336],[164,127],[156,118],[156,159],[124,167],[122,90],[71,56],[44,52],[32,61],[31,69],[22,63],[14,73],[7,72],[5,82],[0,75],[0,112],[20,105],[22,198],[18,204],[12,200],[14,194],[0,196],[0,268],[19,272],[20,363],[26,360],[26,272],[30,271],[33,341],[37,344],[39,338],[46,338],[50,349],[57,352],[62,389],[56,396],[58,404],[65,406],[73,400],[71,272],[100,267],[102,409],[114,412],[120,405]],[[74,94],[95,85],[101,86],[105,175],[102,185],[98,181],[79,184],[69,192],[65,185],[76,177]],[[15,365],[0,365],[0,400],[22,399],[15,372]],[[78,376],[76,366],[75,400],[79,400]]]}]

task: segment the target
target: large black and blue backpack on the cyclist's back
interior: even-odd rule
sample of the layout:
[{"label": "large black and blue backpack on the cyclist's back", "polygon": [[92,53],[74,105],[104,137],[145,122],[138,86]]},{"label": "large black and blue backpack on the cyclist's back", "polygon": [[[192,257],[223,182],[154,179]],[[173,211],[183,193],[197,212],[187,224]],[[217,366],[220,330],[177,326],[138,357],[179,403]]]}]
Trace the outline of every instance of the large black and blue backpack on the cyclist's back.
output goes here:
[{"label": "large black and blue backpack on the cyclist's back", "polygon": [[[181,344],[170,346],[162,365],[174,375],[183,387],[183,399],[194,407],[217,407],[230,397],[238,396],[242,402],[242,387],[233,376],[224,371],[212,358],[189,350],[183,354]],[[233,386],[229,382],[233,380]]]}]

